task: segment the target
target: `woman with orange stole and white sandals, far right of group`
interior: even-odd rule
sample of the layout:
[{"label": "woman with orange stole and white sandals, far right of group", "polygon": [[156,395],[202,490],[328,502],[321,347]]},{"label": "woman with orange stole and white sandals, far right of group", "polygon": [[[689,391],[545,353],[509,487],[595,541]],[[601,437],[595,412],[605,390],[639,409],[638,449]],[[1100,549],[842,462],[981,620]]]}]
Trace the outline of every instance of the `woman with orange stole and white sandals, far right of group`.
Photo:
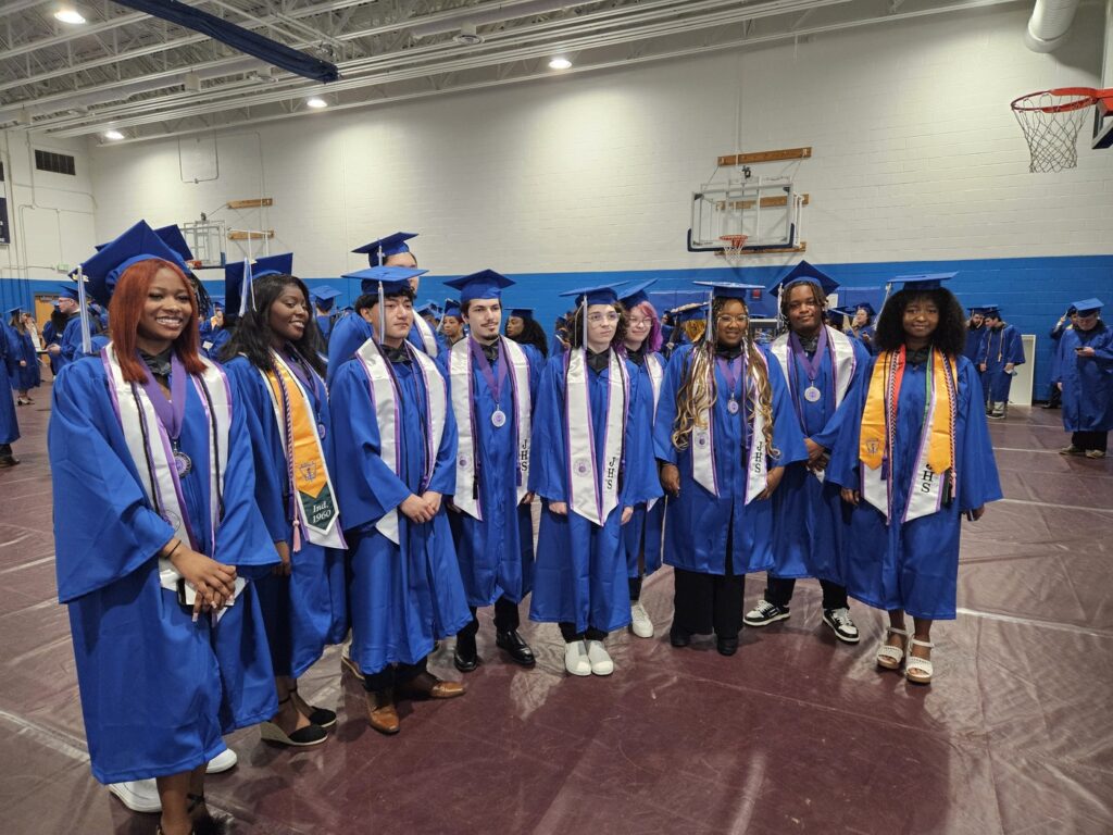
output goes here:
[{"label": "woman with orange stole and white sandals, far right of group", "polygon": [[[964,514],[1002,498],[982,409],[963,356],[963,308],[942,273],[902,276],[881,311],[878,354],[843,422],[827,478],[849,510],[841,576],[851,597],[889,613],[878,666],[930,684],[932,623],[955,617]],[[905,626],[912,615],[914,632]]]}]

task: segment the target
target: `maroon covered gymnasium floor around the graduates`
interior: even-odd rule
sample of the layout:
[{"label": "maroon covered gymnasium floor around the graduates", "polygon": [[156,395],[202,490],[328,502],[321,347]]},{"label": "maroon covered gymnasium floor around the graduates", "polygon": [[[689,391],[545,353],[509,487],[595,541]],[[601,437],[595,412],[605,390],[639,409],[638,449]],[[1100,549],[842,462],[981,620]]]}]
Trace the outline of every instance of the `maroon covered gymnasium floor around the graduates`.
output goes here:
[{"label": "maroon covered gymnasium floor around the graduates", "polygon": [[[0,471],[0,832],[154,833],[89,773],[37,394],[22,463]],[[930,688],[875,669],[878,612],[855,605],[863,642],[836,645],[810,582],[733,658],[672,649],[666,570],[644,592],[658,637],[615,635],[609,679],[565,677],[549,625],[524,630],[538,668],[515,668],[484,618],[467,696],[404,705],[393,738],[334,648],[302,684],[339,710],[332,738],[292,753],[237,733],[210,805],[275,835],[1113,832],[1113,461],[1055,454],[1058,421],[1014,407],[992,425],[1007,498],[965,533]],[[446,648],[434,660],[459,677]]]}]

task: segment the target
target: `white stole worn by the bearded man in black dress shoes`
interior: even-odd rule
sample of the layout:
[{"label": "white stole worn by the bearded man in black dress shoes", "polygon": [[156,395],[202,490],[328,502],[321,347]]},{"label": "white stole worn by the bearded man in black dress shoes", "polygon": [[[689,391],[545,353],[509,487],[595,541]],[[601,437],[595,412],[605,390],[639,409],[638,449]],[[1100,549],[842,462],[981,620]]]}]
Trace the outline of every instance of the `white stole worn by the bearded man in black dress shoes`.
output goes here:
[{"label": "white stole worn by the bearded man in black dress shoes", "polygon": [[[472,352],[467,336],[450,348],[449,374],[452,377],[452,411],[456,416],[459,432],[456,442],[456,493],[452,503],[473,519],[483,521],[480,497],[473,491],[475,484],[475,421],[485,420],[475,414],[475,377],[472,374]],[[514,406],[518,414],[514,426],[518,432],[518,465],[521,479],[518,482],[518,501],[529,492],[530,481],[530,360],[518,343],[500,337],[503,356],[510,362],[510,381],[514,386]]]}]

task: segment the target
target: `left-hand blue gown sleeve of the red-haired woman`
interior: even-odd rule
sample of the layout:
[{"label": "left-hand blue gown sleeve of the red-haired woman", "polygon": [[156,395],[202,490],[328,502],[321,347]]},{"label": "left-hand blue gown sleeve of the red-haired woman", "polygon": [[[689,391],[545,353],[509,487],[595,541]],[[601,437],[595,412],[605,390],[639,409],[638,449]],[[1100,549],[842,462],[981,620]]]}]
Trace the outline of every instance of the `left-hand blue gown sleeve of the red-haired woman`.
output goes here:
[{"label": "left-hand blue gown sleeve of the red-haired woman", "polygon": [[127,577],[174,537],[120,456],[122,436],[119,445],[108,440],[109,395],[96,372],[92,361],[68,365],[51,394],[47,448],[62,603]]}]

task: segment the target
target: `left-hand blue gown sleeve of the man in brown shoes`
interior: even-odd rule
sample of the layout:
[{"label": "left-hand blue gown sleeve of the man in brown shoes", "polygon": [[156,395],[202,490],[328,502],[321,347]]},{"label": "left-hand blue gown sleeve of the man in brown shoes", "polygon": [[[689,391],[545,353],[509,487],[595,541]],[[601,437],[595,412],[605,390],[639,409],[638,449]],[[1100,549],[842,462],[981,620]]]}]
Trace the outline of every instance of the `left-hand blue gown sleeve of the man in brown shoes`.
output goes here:
[{"label": "left-hand blue gown sleeve of the man in brown shoes", "polygon": [[[334,340],[338,333],[337,326]],[[375,407],[367,375],[357,361],[336,370],[328,405],[336,460],[343,462],[333,475],[344,530],[373,524],[410,498],[412,491],[381,458]]]}]

